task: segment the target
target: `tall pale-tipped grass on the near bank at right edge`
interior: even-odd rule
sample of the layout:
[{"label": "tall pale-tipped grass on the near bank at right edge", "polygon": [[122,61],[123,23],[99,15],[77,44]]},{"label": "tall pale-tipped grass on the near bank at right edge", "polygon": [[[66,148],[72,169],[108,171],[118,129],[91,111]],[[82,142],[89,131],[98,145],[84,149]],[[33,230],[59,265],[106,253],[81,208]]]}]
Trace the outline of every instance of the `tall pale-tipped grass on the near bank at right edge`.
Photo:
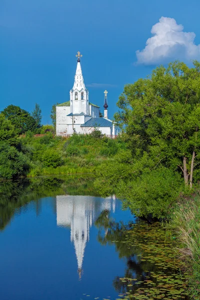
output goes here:
[{"label": "tall pale-tipped grass on the near bank at right edge", "polygon": [[191,274],[188,292],[193,299],[200,299],[200,196],[183,199],[173,211],[172,229],[179,246],[178,253],[186,261]]}]

